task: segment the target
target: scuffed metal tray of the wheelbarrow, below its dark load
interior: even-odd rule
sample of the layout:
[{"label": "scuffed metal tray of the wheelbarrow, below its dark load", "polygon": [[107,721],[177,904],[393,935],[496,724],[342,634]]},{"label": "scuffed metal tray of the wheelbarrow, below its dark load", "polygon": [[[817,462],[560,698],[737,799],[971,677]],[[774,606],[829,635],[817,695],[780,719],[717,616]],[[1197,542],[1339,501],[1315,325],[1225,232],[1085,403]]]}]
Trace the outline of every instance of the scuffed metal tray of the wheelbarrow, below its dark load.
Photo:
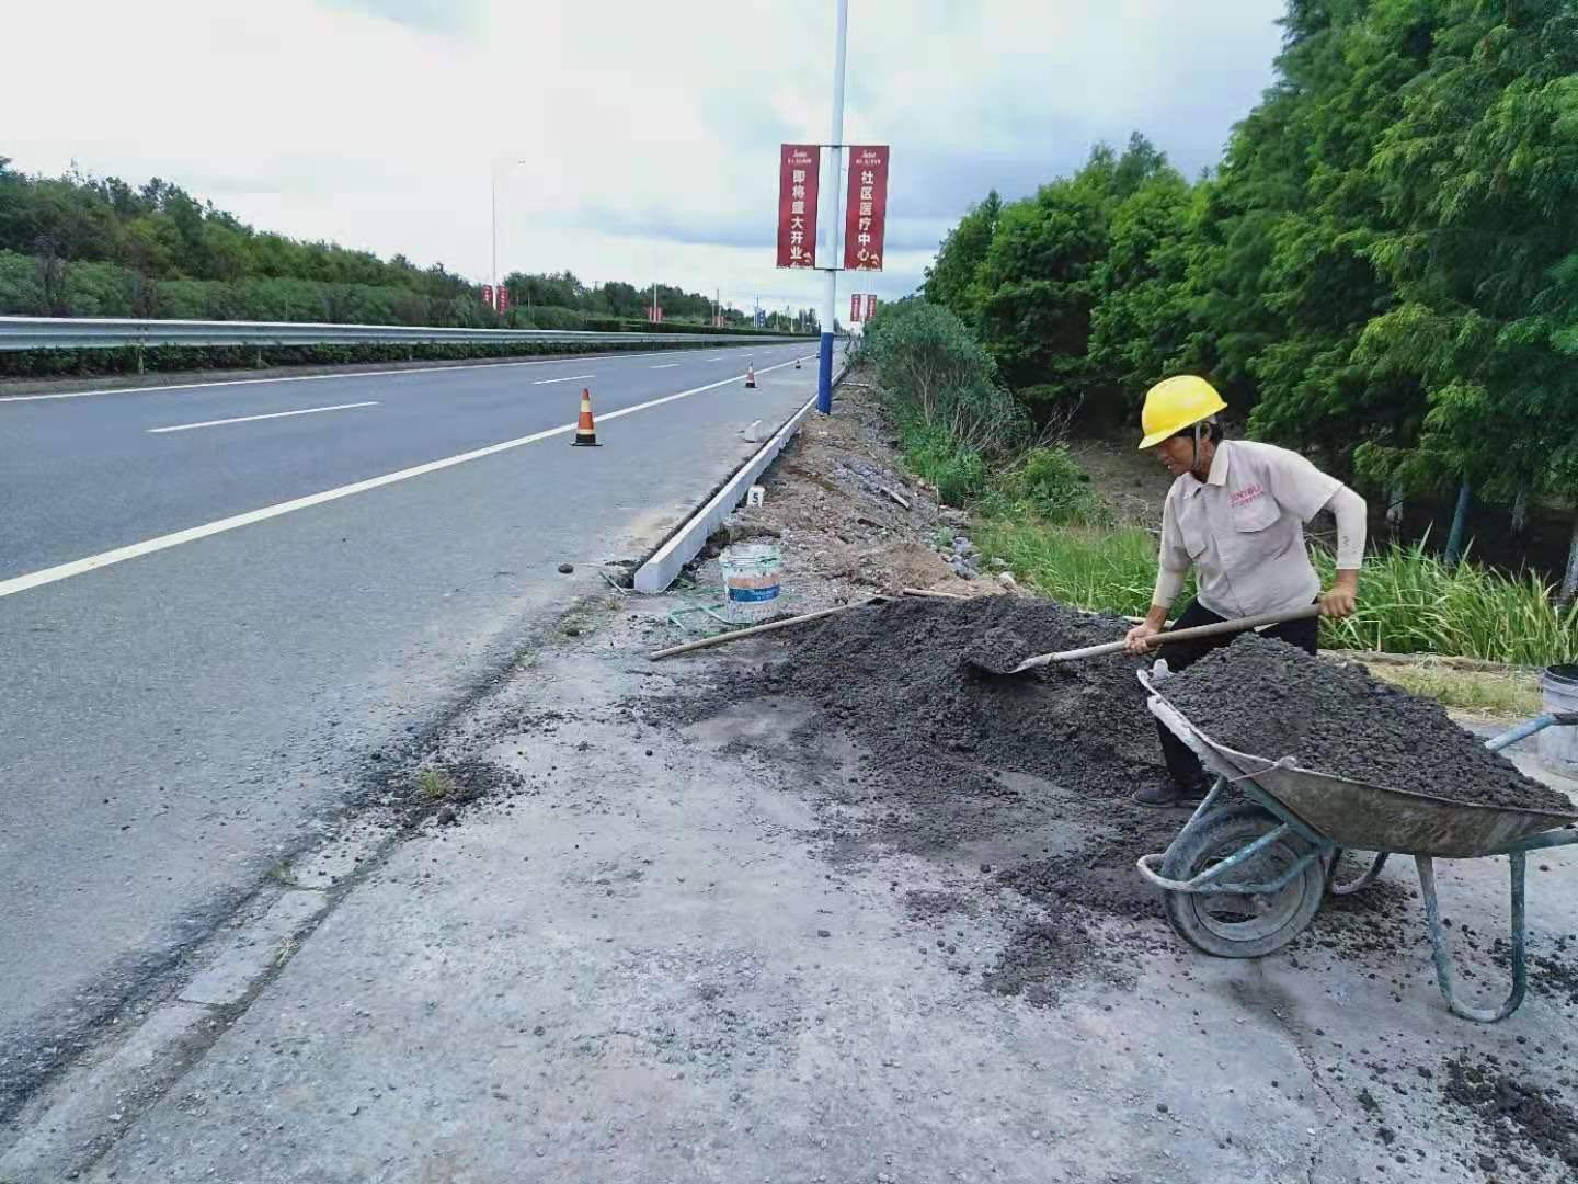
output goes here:
[{"label": "scuffed metal tray of the wheelbarrow, below its dark load", "polygon": [[1231,781],[1253,780],[1303,826],[1340,848],[1471,859],[1505,852],[1523,838],[1578,822],[1578,811],[1452,802],[1305,769],[1286,756],[1240,753],[1190,723],[1144,674],[1141,682],[1150,691],[1152,715],[1207,769]]}]

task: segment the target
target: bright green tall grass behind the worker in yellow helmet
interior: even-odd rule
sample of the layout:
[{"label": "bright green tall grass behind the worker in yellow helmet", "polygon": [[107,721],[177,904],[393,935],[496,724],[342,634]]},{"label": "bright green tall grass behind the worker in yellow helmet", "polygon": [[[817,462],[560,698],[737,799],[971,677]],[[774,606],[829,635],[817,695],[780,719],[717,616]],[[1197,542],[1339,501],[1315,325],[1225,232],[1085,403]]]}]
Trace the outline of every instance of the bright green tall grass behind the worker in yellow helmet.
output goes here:
[{"label": "bright green tall grass behind the worker in yellow helmet", "polygon": [[[982,519],[977,541],[1054,600],[1125,616],[1150,606],[1157,543],[1147,530],[1000,515]],[[1330,583],[1332,556],[1316,549],[1314,562]],[[1561,608],[1553,592],[1534,575],[1513,579],[1466,560],[1447,567],[1422,546],[1393,546],[1365,559],[1359,611],[1346,620],[1322,620],[1321,644],[1520,666],[1578,661],[1578,605]]]}]

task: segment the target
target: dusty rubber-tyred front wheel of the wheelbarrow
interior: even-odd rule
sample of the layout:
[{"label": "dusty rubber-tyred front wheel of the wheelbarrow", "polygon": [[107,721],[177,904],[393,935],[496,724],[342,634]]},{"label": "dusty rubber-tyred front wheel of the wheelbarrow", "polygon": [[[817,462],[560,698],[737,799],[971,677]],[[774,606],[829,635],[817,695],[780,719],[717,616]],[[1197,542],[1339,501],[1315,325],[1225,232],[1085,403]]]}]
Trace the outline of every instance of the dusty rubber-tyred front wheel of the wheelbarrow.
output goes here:
[{"label": "dusty rubber-tyred front wheel of the wheelbarrow", "polygon": [[[1269,834],[1278,821],[1243,802],[1213,810],[1184,829],[1168,849],[1161,875],[1187,881]],[[1226,882],[1266,884],[1278,879],[1313,846],[1286,834],[1247,864],[1225,873]],[[1259,958],[1297,938],[1321,908],[1326,892],[1322,860],[1310,860],[1291,882],[1272,894],[1168,892],[1168,920],[1195,949],[1218,958]]]}]

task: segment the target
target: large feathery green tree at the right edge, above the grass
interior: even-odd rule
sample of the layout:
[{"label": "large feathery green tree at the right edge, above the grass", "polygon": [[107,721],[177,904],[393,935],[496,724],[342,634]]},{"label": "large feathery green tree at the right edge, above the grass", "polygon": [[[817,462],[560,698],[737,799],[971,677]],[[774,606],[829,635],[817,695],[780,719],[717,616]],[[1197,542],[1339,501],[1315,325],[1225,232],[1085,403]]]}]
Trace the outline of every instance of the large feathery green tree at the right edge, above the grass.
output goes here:
[{"label": "large feathery green tree at the right edge, above the grass", "polygon": [[[1389,6],[1390,8],[1390,6]],[[1439,5],[1430,65],[1373,158],[1392,226],[1371,256],[1400,306],[1363,355],[1419,384],[1417,440],[1371,463],[1494,497],[1578,448],[1564,343],[1578,253],[1578,11]]]}]

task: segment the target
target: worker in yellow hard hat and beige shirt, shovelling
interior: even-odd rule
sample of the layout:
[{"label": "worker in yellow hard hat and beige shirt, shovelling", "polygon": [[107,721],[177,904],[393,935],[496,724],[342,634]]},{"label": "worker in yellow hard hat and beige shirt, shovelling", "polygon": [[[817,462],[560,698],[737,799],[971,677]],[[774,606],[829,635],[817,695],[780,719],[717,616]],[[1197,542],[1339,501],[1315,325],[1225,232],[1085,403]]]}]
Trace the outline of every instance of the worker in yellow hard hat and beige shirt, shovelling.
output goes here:
[{"label": "worker in yellow hard hat and beige shirt, shovelling", "polygon": [[[1191,567],[1198,595],[1174,628],[1280,613],[1314,600],[1326,617],[1354,613],[1365,554],[1363,499],[1294,451],[1225,439],[1217,417],[1226,407],[1215,387],[1193,374],[1158,382],[1146,395],[1139,448],[1154,448],[1174,481],[1161,508],[1157,589],[1146,619],[1125,638],[1130,654],[1157,649],[1155,636]],[[1337,518],[1337,578],[1326,592],[1303,541],[1303,524],[1321,510]],[[1314,654],[1319,620],[1305,617],[1262,633]],[[1160,657],[1179,671],[1234,636],[1169,644]],[[1157,731],[1168,777],[1136,791],[1135,800],[1157,807],[1198,802],[1206,792],[1199,759],[1168,728],[1158,723]]]}]

